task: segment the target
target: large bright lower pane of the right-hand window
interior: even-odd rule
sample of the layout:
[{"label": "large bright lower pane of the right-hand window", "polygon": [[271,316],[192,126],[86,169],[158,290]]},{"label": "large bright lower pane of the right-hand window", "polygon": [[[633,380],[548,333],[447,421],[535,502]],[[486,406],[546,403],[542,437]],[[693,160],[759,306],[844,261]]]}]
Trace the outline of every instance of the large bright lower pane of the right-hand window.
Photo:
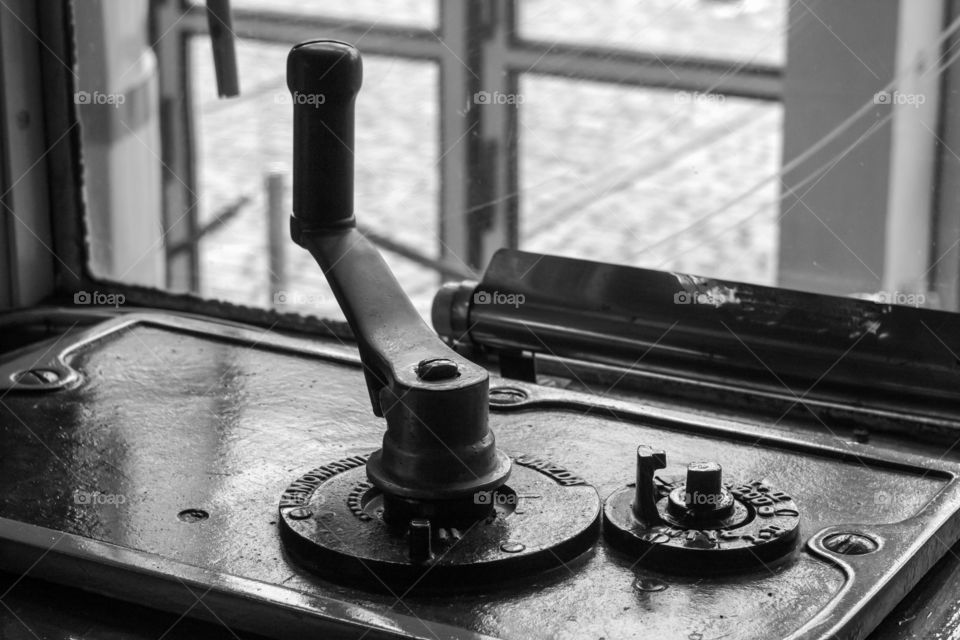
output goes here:
[{"label": "large bright lower pane of the right-hand window", "polygon": [[521,78],[522,247],[775,284],[777,103]]}]

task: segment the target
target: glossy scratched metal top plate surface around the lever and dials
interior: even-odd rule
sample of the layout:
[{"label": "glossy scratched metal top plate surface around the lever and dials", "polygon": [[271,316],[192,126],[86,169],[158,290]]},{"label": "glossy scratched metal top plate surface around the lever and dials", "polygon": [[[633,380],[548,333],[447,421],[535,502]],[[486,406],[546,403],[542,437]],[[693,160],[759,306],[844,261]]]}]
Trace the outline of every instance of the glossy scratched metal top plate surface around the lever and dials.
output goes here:
[{"label": "glossy scratched metal top plate surface around the lever and dials", "polygon": [[[379,446],[383,424],[350,347],[128,316],[66,351],[50,366],[77,381],[13,385],[0,404],[0,568],[39,559],[31,575],[175,613],[176,581],[206,586],[218,617],[240,628],[259,630],[251,603],[266,603],[343,633],[373,627],[370,637],[862,637],[958,537],[952,463],[864,445],[853,456],[833,439],[511,382],[529,397],[491,413],[504,450],[550,459],[603,497],[632,479],[638,444],[667,451],[667,476],[709,456],[731,482],[787,490],[803,547],[776,566],[711,578],[639,569],[601,541],[532,582],[505,576],[502,589],[398,600],[301,570],[277,531],[292,480]],[[178,517],[188,510],[209,517]],[[847,530],[875,536],[880,550],[842,557],[820,545]],[[110,580],[91,569],[98,561]],[[125,583],[125,570],[150,588]],[[666,588],[638,589],[638,578]]]}]

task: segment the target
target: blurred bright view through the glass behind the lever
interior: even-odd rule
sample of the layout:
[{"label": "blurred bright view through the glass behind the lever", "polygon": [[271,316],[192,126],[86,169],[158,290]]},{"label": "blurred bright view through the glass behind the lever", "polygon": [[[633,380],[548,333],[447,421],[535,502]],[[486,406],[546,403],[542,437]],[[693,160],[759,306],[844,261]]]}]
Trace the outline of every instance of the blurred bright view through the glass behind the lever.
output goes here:
[{"label": "blurred bright view through the glass behind the lever", "polygon": [[911,7],[83,0],[91,268],[338,317],[287,222],[285,58],[323,37],[364,55],[357,216],[425,315],[502,246],[956,309],[955,26]]}]

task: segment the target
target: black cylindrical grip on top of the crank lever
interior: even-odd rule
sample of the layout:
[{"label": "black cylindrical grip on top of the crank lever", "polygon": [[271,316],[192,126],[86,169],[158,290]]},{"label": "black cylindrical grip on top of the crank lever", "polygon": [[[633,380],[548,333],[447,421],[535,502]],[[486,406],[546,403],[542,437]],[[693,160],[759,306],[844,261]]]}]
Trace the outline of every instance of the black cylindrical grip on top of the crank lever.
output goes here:
[{"label": "black cylindrical grip on top of the crank lever", "polygon": [[293,217],[302,231],[355,226],[354,103],[363,62],[349,44],[316,40],[287,58],[293,99]]}]

